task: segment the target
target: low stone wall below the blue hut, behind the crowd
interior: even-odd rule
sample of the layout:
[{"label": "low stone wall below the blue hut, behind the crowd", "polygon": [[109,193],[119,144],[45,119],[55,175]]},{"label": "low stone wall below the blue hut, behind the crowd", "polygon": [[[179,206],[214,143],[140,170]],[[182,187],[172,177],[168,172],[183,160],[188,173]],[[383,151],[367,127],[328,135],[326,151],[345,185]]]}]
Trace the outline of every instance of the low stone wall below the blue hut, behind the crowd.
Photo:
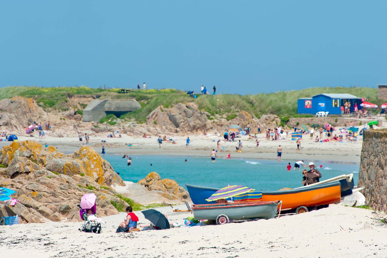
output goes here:
[{"label": "low stone wall below the blue hut, behind the crowd", "polygon": [[[337,119],[337,122],[336,122]],[[319,124],[319,125],[324,125],[324,124],[331,124],[333,126],[344,126],[344,125],[349,125],[349,121],[353,122],[353,125],[359,125],[359,120],[353,119],[350,120],[348,118],[340,118],[340,117],[292,117],[289,118],[289,122],[286,123],[288,126],[295,126],[297,127],[297,122],[300,123],[298,126],[301,125],[306,125],[309,123],[310,126],[313,124]]]}]

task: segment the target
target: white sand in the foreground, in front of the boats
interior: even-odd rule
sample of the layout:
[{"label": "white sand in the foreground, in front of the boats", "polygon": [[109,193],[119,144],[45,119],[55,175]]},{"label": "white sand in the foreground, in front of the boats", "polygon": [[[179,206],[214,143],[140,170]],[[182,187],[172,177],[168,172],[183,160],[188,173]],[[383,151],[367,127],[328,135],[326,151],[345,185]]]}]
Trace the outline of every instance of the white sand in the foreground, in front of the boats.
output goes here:
[{"label": "white sand in the foreground, in front of the boats", "polygon": [[[172,212],[171,207],[157,209],[171,222],[182,223],[190,215]],[[141,212],[135,214],[140,223],[149,223]],[[380,222],[385,214],[343,205],[269,220],[116,233],[125,215],[104,217],[107,223],[101,234],[78,231],[81,222],[1,226],[0,254],[31,258],[387,256],[387,224]]]}]

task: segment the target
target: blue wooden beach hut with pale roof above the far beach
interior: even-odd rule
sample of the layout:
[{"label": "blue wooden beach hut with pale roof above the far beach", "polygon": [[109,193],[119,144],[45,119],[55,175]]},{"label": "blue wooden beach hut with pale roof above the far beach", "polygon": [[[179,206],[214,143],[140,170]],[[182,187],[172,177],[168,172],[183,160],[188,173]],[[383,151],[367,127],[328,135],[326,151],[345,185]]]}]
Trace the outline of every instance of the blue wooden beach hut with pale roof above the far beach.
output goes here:
[{"label": "blue wooden beach hut with pale roof above the far beach", "polygon": [[344,103],[351,103],[351,112],[354,111],[355,104],[359,107],[361,98],[351,94],[317,94],[312,97],[304,97],[297,100],[298,114],[316,114],[324,111],[329,114],[341,114],[341,106]]}]

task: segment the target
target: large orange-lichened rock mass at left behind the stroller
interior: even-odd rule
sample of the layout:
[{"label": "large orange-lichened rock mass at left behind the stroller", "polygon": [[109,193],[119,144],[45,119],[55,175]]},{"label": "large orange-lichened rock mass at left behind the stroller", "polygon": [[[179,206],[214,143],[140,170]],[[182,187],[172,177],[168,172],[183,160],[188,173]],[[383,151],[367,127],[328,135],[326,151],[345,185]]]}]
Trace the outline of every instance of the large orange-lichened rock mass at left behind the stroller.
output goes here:
[{"label": "large orange-lichened rock mass at left behind the stroller", "polygon": [[12,142],[0,152],[0,187],[17,191],[20,203],[0,209],[0,215],[19,215],[22,222],[80,220],[77,205],[85,193],[97,196],[97,215],[118,214],[111,204],[122,203],[112,184],[125,186],[109,162],[90,147],[65,155],[38,142]]}]

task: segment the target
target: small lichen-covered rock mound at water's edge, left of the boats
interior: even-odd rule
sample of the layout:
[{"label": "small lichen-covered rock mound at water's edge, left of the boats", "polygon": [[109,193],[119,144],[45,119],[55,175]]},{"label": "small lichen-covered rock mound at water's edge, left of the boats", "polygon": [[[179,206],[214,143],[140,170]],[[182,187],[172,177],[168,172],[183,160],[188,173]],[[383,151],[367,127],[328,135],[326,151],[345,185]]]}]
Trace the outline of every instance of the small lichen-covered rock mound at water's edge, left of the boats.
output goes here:
[{"label": "small lichen-covered rock mound at water's edge, left of the boats", "polygon": [[185,201],[190,197],[187,190],[179,186],[175,180],[167,178],[161,180],[160,175],[156,172],[149,173],[146,178],[141,179],[138,183],[149,190],[158,191],[161,196],[169,200]]}]

